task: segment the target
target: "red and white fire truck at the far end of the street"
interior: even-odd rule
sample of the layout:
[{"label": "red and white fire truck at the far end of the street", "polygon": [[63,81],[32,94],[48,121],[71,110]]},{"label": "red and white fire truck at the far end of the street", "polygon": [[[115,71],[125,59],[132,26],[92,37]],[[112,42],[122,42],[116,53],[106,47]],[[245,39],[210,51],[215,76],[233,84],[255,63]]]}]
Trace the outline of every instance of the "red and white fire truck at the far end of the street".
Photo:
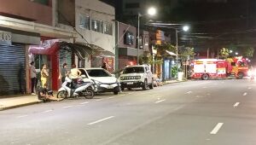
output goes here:
[{"label": "red and white fire truck at the far end of the street", "polygon": [[248,65],[246,59],[240,57],[232,57],[226,60],[221,59],[198,59],[190,62],[190,78],[201,78],[207,80],[209,78],[226,78],[235,76],[243,78],[247,76]]}]

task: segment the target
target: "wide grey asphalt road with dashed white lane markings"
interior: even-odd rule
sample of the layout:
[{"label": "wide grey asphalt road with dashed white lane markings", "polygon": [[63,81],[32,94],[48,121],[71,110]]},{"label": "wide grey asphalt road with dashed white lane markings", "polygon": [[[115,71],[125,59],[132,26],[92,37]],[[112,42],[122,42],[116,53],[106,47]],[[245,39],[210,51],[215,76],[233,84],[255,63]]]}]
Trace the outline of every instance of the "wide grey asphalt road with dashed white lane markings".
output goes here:
[{"label": "wide grey asphalt road with dashed white lane markings", "polygon": [[0,112],[0,144],[255,145],[256,81],[189,81]]}]

